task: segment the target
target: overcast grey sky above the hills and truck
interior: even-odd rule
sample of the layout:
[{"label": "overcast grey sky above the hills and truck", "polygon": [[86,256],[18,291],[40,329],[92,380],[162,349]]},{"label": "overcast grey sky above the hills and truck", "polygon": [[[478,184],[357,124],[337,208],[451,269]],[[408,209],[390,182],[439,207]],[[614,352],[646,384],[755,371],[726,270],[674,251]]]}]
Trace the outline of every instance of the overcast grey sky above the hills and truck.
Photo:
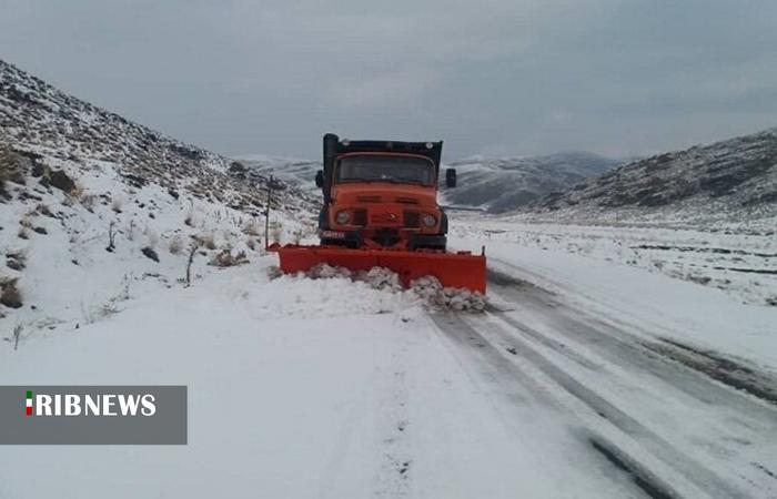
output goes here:
[{"label": "overcast grey sky above the hills and truck", "polygon": [[775,0],[0,0],[0,58],[179,139],[647,154],[777,126]]}]

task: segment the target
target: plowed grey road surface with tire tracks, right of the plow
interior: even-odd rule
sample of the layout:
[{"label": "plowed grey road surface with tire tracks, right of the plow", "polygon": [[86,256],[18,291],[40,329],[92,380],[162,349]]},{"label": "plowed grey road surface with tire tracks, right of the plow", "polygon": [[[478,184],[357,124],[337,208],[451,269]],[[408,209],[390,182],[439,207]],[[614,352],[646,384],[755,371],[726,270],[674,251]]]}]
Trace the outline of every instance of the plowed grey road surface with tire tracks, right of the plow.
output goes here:
[{"label": "plowed grey road surface with tire tracks, right of the plow", "polygon": [[491,272],[496,309],[434,319],[496,397],[569,416],[591,452],[649,497],[777,493],[774,377],[648,339],[644,325],[576,309],[495,265],[512,269]]}]

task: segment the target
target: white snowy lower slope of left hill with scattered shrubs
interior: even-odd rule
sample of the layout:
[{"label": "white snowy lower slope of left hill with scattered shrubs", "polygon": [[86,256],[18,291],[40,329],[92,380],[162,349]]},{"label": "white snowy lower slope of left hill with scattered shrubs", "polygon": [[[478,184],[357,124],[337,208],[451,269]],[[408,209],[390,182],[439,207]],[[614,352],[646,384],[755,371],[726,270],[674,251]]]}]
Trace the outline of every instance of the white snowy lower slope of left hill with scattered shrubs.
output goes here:
[{"label": "white snowy lower slope of left hill with scattered shrubs", "polygon": [[[131,185],[115,164],[48,160],[71,191],[31,176],[0,204],[0,269],[4,337],[82,327],[123,308],[131,295],[181,286],[219,267],[264,253],[263,221],[185,190]],[[180,179],[185,182],[185,177]],[[292,241],[310,231],[272,213],[271,237]],[[189,265],[189,261],[192,264]],[[14,291],[16,301],[8,294]]]}]

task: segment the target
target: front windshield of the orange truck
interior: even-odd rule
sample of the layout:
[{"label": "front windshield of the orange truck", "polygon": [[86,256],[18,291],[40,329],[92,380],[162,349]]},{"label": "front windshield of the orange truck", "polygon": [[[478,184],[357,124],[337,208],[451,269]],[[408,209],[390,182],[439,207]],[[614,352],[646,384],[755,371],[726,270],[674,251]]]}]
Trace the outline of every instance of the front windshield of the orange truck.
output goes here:
[{"label": "front windshield of the orange truck", "polygon": [[397,182],[434,185],[434,165],[423,157],[354,154],[340,159],[336,183]]}]

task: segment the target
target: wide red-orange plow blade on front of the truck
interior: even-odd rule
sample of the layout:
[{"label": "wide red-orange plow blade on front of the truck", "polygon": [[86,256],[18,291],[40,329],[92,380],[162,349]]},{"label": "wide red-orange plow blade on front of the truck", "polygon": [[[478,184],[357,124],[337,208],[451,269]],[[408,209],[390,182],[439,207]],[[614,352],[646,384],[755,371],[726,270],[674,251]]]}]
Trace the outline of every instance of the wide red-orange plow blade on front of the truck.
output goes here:
[{"label": "wide red-orange plow blade on front of the truck", "polygon": [[468,252],[432,253],[297,245],[275,246],[271,251],[278,252],[281,271],[285,274],[306,272],[325,263],[354,272],[385,267],[398,274],[405,287],[420,277],[431,275],[445,287],[466,288],[482,294],[485,294],[486,288],[485,255]]}]

